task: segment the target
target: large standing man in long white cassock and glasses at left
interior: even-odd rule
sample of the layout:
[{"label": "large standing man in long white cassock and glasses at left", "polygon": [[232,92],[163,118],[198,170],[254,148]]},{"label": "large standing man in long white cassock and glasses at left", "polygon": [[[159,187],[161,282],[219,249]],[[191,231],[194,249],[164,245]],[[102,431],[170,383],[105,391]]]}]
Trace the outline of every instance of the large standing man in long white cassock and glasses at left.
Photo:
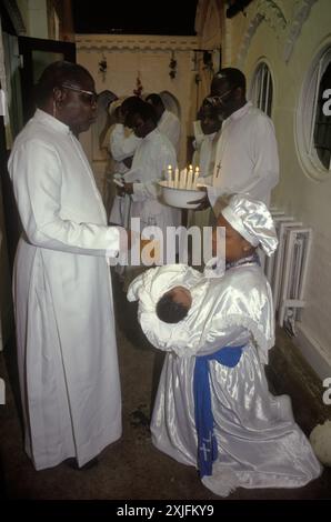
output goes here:
[{"label": "large standing man in long white cassock and glasses at left", "polygon": [[121,436],[110,271],[120,230],[107,215],[78,141],[96,118],[90,73],[54,62],[17,137],[9,172],[23,233],[14,311],[24,446],[37,470],[88,465]]}]

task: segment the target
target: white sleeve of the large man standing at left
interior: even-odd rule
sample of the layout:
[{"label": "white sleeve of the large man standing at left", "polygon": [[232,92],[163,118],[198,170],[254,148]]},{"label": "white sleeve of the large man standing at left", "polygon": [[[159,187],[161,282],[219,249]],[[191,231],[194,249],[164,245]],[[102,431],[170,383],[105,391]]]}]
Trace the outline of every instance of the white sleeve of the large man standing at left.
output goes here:
[{"label": "white sleeve of the large man standing at left", "polygon": [[9,172],[28,240],[41,248],[89,255],[117,255],[116,227],[78,223],[61,218],[61,163],[47,144],[31,140],[16,150]]}]

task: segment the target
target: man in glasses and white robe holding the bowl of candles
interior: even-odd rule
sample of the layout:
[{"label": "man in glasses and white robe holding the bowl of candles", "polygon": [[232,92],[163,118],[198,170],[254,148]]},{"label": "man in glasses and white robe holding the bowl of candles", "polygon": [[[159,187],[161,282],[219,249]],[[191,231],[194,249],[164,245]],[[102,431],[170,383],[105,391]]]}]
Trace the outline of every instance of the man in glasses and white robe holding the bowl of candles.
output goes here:
[{"label": "man in glasses and white robe holding the bowl of candles", "polygon": [[279,181],[279,157],[271,119],[245,99],[245,77],[234,68],[221,69],[207,98],[223,120],[208,194],[197,210],[214,207],[222,194],[249,193],[270,204]]}]

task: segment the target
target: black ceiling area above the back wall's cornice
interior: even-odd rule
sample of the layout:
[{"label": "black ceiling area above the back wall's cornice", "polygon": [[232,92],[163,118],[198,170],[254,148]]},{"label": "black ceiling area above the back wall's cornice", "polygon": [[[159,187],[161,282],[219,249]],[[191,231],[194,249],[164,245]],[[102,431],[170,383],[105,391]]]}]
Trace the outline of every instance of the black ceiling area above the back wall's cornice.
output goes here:
[{"label": "black ceiling area above the back wall's cornice", "polygon": [[197,4],[198,0],[72,0],[74,32],[194,36]]}]

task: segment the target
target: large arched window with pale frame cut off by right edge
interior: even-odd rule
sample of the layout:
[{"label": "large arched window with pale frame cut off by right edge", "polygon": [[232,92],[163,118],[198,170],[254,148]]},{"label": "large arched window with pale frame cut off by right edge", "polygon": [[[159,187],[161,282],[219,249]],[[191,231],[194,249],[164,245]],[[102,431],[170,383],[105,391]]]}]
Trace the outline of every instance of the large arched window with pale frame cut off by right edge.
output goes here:
[{"label": "large arched window with pale frame cut off by right edge", "polygon": [[297,147],[304,171],[314,179],[331,174],[331,47],[309,69],[297,111]]}]

